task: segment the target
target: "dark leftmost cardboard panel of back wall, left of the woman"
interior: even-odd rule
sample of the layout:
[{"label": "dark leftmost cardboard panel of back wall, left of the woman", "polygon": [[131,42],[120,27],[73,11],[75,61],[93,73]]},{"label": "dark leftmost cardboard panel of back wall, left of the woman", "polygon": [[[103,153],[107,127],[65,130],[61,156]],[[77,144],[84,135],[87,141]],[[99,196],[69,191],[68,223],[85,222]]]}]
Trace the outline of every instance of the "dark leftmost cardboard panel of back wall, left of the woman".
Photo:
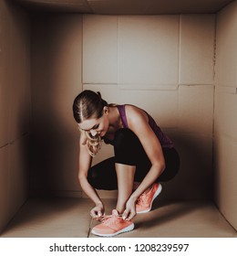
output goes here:
[{"label": "dark leftmost cardboard panel of back wall, left of the woman", "polygon": [[32,27],[31,191],[80,197],[72,103],[82,91],[82,16],[34,16]]}]

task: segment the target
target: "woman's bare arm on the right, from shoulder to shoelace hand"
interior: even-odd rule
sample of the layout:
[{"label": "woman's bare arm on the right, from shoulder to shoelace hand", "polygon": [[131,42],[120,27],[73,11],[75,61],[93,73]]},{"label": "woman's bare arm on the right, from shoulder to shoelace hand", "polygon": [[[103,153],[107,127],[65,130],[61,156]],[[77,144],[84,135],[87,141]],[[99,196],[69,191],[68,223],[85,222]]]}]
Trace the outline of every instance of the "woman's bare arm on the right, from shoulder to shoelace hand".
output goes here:
[{"label": "woman's bare arm on the right, from shoulder to shoelace hand", "polygon": [[[139,196],[149,188],[164,171],[165,159],[160,141],[149,126],[147,114],[139,108],[131,105],[126,106],[126,114],[129,129],[139,137],[139,141],[143,145],[144,150],[149,157],[149,161],[151,162],[149,173],[144,177],[139,187],[129,197],[127,203],[128,209],[125,211],[128,213],[128,211],[130,211],[129,208],[135,208],[135,204]],[[133,217],[134,215],[130,215],[129,219],[132,219]]]}]

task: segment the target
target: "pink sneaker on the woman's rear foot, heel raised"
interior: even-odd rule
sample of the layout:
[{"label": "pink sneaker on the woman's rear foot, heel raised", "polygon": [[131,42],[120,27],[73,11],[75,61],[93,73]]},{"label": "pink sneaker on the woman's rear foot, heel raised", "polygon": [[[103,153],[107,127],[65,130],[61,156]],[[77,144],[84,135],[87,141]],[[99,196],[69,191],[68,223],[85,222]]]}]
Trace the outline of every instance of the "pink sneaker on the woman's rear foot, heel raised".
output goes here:
[{"label": "pink sneaker on the woman's rear foot, heel raised", "polygon": [[149,212],[152,207],[153,200],[159,196],[161,190],[161,185],[159,183],[154,183],[149,192],[142,193],[136,204],[137,213]]}]

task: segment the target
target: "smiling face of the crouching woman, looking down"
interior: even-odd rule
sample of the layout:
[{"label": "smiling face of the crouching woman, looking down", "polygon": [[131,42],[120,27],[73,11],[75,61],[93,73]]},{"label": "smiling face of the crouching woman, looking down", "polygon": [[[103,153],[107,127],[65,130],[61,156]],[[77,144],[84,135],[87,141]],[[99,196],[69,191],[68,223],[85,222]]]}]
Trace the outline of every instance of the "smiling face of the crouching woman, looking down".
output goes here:
[{"label": "smiling face of the crouching woman, looking down", "polygon": [[104,113],[100,118],[89,118],[78,125],[81,130],[90,133],[93,137],[96,135],[103,137],[108,131],[108,108],[104,108]]}]

